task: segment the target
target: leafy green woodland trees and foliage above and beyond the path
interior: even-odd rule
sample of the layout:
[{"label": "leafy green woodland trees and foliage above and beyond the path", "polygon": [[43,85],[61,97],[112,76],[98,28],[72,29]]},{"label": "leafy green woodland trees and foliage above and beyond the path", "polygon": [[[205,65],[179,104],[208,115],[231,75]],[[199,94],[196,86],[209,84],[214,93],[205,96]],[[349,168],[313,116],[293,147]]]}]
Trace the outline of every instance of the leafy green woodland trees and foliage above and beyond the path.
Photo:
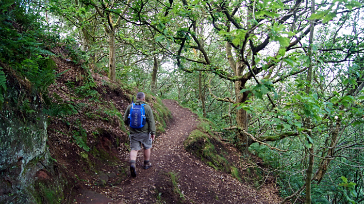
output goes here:
[{"label": "leafy green woodland trees and foliage above and beyond the path", "polygon": [[5,0],[0,61],[43,93],[55,78],[44,58],[72,47],[91,71],[215,122],[269,164],[284,201],[363,203],[362,11],[362,0]]}]

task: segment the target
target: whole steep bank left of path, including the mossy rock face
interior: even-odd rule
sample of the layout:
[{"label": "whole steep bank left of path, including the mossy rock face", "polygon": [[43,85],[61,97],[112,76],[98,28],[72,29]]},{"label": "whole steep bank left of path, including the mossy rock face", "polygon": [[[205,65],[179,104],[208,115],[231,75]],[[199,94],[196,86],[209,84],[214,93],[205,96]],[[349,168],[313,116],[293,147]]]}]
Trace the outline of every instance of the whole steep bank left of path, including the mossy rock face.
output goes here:
[{"label": "whole steep bank left of path, including the mossy rock face", "polygon": [[[6,83],[0,104],[1,204],[70,203],[85,184],[115,186],[126,178],[127,161],[120,156],[128,152],[129,139],[122,116],[138,90],[90,70],[71,47],[51,51],[39,60],[39,70],[49,77],[42,78],[48,83],[42,89],[0,61]],[[160,99],[146,99],[157,131],[164,131],[170,113]]]}]

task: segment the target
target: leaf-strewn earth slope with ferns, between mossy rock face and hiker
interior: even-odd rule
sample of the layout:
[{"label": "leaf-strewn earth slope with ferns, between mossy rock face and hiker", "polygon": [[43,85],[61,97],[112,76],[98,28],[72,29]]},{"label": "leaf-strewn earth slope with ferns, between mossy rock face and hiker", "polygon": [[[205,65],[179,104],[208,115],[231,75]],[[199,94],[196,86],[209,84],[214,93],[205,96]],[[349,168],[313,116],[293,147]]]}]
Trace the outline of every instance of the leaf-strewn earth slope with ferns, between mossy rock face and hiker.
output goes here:
[{"label": "leaf-strewn earth slope with ferns, between mossy rock face and hiker", "polygon": [[[83,68],[63,47],[52,51],[62,57],[53,58],[59,78],[49,87],[47,144],[70,181],[64,197],[69,202],[84,189],[117,186],[127,177],[129,137],[122,117],[138,90]],[[146,101],[159,134],[170,113],[160,99],[147,94]]]}]

